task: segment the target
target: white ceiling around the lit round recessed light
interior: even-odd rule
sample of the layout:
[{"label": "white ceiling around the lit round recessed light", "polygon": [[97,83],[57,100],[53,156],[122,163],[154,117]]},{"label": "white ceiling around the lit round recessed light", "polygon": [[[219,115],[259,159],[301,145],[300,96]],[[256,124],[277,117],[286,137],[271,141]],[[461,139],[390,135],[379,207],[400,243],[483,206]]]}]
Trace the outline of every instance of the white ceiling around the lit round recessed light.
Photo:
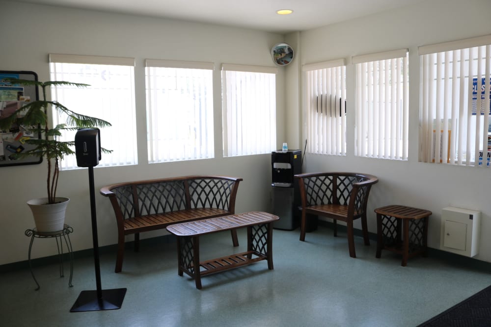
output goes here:
[{"label": "white ceiling around the lit round recessed light", "polygon": [[[72,8],[136,14],[275,33],[303,31],[421,0],[19,0]],[[292,9],[281,16],[278,9]]]}]

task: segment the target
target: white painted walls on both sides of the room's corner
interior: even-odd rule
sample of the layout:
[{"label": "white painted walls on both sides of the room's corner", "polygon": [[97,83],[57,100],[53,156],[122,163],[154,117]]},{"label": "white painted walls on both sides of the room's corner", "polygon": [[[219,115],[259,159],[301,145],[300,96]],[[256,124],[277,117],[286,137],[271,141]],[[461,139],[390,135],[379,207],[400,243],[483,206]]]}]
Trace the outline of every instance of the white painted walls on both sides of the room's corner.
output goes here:
[{"label": "white painted walls on both sides of the room's corner", "polygon": [[[378,206],[400,203],[432,210],[429,245],[439,248],[440,209],[448,206],[482,211],[482,237],[477,258],[491,262],[491,204],[488,170],[417,161],[419,58],[417,47],[491,33],[491,1],[427,0],[419,5],[396,9],[352,21],[285,37],[278,34],[234,27],[185,23],[139,16],[72,10],[0,0],[0,70],[32,70],[40,80],[49,79],[48,53],[127,56],[136,58],[137,166],[96,168],[96,191],[109,183],[180,176],[218,174],[241,176],[237,212],[267,210],[270,191],[270,155],[222,158],[221,104],[219,75],[215,76],[216,158],[179,163],[146,163],[145,58],[212,61],[273,66],[272,46],[290,43],[296,59],[279,68],[277,78],[277,145],[286,140],[289,148],[303,148],[301,129],[302,63],[337,58],[348,62],[348,99],[355,99],[354,68],[351,56],[384,50],[409,48],[409,160],[391,161],[359,158],[353,155],[354,115],[348,115],[348,155],[346,157],[308,154],[304,171],[357,171],[378,176],[370,196],[369,212]],[[301,54],[301,55],[300,55]],[[140,81],[140,83],[138,83]],[[348,101],[348,112],[354,112]],[[303,149],[302,149],[303,150]],[[26,260],[27,228],[33,227],[26,201],[44,195],[45,164],[0,167],[0,264]],[[92,247],[88,178],[86,170],[61,173],[59,195],[71,202],[67,223],[74,227],[75,250]],[[96,194],[101,246],[116,243],[116,226],[109,201]],[[358,225],[356,225],[358,226]],[[376,231],[375,215],[369,216],[369,229]],[[144,234],[146,237],[161,232]],[[142,237],[145,237],[142,235]],[[373,245],[372,245],[373,246]],[[51,242],[36,240],[33,257],[55,254]]]}]

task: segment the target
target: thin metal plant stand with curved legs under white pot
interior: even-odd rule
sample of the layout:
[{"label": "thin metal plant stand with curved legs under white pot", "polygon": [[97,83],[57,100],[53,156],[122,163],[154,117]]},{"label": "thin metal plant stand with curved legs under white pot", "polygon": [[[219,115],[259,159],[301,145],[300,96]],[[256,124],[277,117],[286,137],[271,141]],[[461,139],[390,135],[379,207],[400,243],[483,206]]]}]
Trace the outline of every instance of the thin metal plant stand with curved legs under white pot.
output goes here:
[{"label": "thin metal plant stand with curved legs under white pot", "polygon": [[[66,224],[63,225],[62,230],[53,231],[53,232],[41,232],[41,231],[37,231],[36,228],[26,230],[26,232],[25,232],[26,236],[29,236],[31,238],[30,243],[29,243],[29,253],[28,253],[27,259],[29,261],[29,269],[30,269],[32,278],[34,278],[34,281],[36,282],[36,285],[37,285],[36,291],[39,290],[40,286],[36,280],[36,277],[34,277],[34,273],[32,272],[32,264],[31,264],[31,260],[30,260],[30,253],[32,250],[32,243],[34,242],[34,238],[55,238],[56,248],[58,249],[60,277],[63,277],[63,241],[62,241],[62,238],[65,240],[65,244],[66,244],[68,254],[70,257],[70,279],[68,280],[68,286],[73,287],[73,285],[72,285],[73,250],[72,250],[72,243],[70,242],[70,236],[69,236],[69,234],[72,232],[73,232],[73,228],[71,226],[66,225]],[[59,241],[58,241],[58,239],[59,239]],[[61,250],[61,252],[60,252],[60,250]]]}]

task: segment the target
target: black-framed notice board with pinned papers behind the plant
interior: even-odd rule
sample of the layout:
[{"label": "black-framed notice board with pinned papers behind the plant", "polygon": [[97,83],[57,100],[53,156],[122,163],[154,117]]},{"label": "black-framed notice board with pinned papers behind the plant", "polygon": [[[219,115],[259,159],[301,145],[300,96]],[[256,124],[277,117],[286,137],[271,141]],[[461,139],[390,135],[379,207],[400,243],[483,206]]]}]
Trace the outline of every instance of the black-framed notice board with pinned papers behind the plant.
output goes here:
[{"label": "black-framed notice board with pinned papers behind the plant", "polygon": [[[39,100],[37,86],[12,84],[7,78],[38,80],[34,72],[0,71],[0,118],[14,114],[29,101]],[[17,113],[18,117],[22,115],[22,111]],[[31,132],[31,127],[16,123],[9,130],[0,130],[0,167],[41,163],[41,156],[17,158],[15,155],[33,148],[27,140],[41,137]]]}]

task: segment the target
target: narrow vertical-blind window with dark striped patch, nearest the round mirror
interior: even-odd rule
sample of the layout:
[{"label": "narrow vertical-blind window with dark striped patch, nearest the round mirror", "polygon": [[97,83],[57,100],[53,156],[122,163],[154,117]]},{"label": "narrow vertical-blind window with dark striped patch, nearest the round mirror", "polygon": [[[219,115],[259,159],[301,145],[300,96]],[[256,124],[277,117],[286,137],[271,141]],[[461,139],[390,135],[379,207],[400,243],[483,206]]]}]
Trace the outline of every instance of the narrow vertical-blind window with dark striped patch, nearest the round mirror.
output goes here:
[{"label": "narrow vertical-blind window with dark striped patch, nearest the round mirror", "polygon": [[346,155],[344,59],[302,66],[305,80],[306,151]]}]

